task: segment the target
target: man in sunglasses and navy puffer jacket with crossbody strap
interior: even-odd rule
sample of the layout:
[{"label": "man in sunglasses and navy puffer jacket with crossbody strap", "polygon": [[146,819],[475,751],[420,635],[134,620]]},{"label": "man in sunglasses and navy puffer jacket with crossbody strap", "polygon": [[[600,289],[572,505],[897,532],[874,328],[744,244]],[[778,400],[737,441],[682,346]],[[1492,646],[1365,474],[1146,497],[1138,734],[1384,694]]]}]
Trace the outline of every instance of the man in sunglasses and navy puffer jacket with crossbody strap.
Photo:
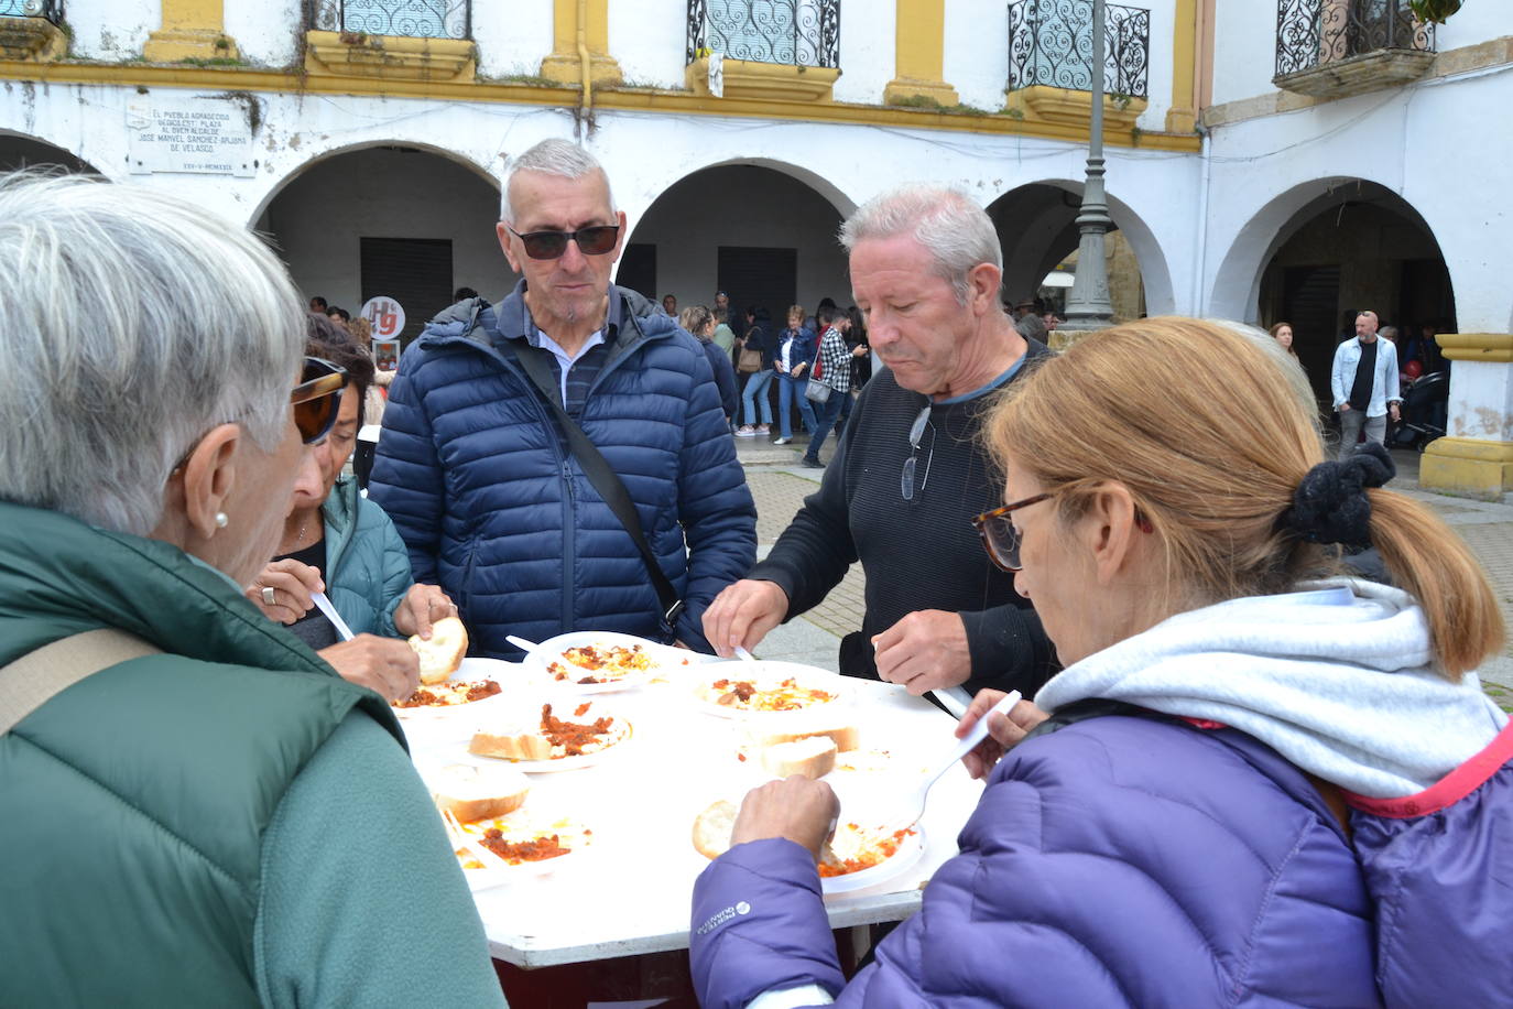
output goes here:
[{"label": "man in sunglasses and navy puffer jacket with crossbody strap", "polygon": [[[578,629],[708,649],[701,617],[755,560],[756,510],[704,349],[610,283],[625,213],[589,151],[537,144],[504,195],[499,244],[522,281],[498,306],[452,306],[405,351],[371,493],[478,655]],[[558,408],[623,484],[646,554]]]}]

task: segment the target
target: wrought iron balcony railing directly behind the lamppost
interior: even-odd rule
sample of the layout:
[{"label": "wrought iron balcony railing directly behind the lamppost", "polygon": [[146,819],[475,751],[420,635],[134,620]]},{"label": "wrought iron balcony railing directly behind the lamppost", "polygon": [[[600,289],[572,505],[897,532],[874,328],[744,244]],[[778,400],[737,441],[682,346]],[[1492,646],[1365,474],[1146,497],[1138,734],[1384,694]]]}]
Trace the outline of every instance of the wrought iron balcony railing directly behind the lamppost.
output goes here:
[{"label": "wrought iron balcony railing directly behind the lamppost", "polygon": [[[1145,98],[1150,11],[1104,8],[1103,91]],[[1047,85],[1092,91],[1092,0],[1015,0],[1009,5],[1009,91]]]}]

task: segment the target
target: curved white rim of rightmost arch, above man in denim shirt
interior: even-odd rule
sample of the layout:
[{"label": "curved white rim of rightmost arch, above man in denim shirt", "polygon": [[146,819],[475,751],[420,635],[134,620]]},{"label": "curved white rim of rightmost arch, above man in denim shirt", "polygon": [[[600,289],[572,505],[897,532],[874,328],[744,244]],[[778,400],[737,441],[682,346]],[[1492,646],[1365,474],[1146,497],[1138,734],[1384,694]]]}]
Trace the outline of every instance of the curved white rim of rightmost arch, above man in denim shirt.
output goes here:
[{"label": "curved white rim of rightmost arch, above man in denim shirt", "polygon": [[[1245,224],[1230,239],[1224,257],[1213,271],[1204,315],[1242,322],[1257,322],[1260,315],[1260,281],[1288,241],[1325,209],[1344,203],[1351,188],[1372,183],[1396,197],[1395,213],[1422,227],[1440,250],[1439,234],[1407,198],[1386,182],[1365,175],[1325,175],[1294,185],[1260,203],[1244,218]],[[1448,263],[1448,260],[1446,260]],[[1457,281],[1451,269],[1451,286]]]}]

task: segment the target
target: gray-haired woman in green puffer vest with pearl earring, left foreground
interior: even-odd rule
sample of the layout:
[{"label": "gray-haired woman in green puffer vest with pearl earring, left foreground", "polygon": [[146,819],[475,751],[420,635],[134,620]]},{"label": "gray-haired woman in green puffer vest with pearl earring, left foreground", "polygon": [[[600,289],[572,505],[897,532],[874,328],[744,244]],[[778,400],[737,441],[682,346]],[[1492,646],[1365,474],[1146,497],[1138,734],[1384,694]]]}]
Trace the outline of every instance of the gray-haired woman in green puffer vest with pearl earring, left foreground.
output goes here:
[{"label": "gray-haired woman in green puffer vest with pearl earring, left foreground", "polygon": [[501,1004],[387,705],[242,598],[340,390],[283,268],[12,175],[0,277],[0,1003]]}]

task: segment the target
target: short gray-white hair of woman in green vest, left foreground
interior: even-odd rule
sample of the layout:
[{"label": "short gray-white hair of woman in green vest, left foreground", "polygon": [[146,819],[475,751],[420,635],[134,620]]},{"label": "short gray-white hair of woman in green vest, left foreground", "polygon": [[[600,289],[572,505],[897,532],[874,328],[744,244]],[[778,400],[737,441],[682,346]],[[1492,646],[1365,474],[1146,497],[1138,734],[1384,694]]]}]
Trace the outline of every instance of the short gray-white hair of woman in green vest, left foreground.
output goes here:
[{"label": "short gray-white hair of woman in green vest, left foreground", "polygon": [[148,534],[174,464],[289,424],[304,309],[251,233],[151,189],[0,175],[0,498]]}]

